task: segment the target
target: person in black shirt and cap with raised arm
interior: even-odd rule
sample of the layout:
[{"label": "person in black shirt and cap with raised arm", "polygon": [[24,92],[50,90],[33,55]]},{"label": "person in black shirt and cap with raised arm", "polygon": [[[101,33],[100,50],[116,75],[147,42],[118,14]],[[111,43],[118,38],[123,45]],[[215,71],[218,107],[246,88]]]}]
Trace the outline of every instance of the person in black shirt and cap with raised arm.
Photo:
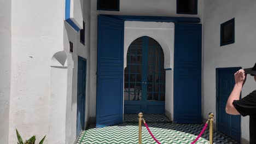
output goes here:
[{"label": "person in black shirt and cap with raised arm", "polygon": [[[256,63],[253,68],[240,69],[235,73],[235,86],[226,102],[226,113],[230,115],[249,116],[250,144],[256,143],[256,90],[240,99],[242,87],[247,74],[256,81]],[[256,85],[255,85],[256,88]]]}]

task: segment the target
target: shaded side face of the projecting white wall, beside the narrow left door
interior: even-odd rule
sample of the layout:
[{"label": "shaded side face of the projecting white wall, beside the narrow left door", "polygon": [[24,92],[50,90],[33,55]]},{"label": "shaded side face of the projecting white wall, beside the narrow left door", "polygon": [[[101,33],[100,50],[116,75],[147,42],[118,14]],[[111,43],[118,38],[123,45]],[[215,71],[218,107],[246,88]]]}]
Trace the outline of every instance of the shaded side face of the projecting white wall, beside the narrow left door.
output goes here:
[{"label": "shaded side face of the projecting white wall, beside the narrow left door", "polygon": [[[73,52],[69,52],[69,41],[73,43]],[[66,143],[76,139],[77,124],[77,43],[79,34],[64,21],[63,46],[67,53],[67,98],[66,98]]]}]

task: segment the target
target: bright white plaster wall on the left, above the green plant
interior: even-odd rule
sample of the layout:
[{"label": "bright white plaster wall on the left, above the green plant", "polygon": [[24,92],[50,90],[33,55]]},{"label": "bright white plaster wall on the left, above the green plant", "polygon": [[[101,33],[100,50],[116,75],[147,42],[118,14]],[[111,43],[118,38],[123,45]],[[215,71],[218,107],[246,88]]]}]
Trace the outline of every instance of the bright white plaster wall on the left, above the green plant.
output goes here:
[{"label": "bright white plaster wall on the left, above the green plant", "polygon": [[[84,19],[85,27],[89,29],[90,1],[73,2],[72,16],[79,21],[80,26]],[[65,1],[14,0],[3,4],[1,1],[2,5],[6,6],[6,9],[1,9],[4,17],[0,15],[4,20],[1,28],[3,24],[5,37],[2,38],[2,29],[0,36],[1,40],[5,40],[6,43],[2,44],[7,49],[1,53],[4,56],[1,55],[0,62],[1,65],[4,62],[3,72],[7,74],[3,82],[6,85],[2,86],[1,83],[0,87],[0,114],[1,119],[2,116],[6,117],[1,128],[2,124],[7,126],[3,128],[4,134],[1,133],[0,143],[15,143],[15,128],[18,128],[24,140],[32,135],[36,135],[38,139],[46,135],[45,143],[74,143],[77,120],[77,56],[88,58],[86,46],[89,46],[90,31],[86,29],[85,45],[81,44],[80,32],[74,31],[64,21]],[[69,53],[69,41],[74,44],[73,53]],[[65,54],[65,58],[56,61],[53,56],[60,52]],[[2,75],[2,69],[0,72]],[[8,83],[11,86],[10,112]],[[89,100],[86,101],[86,122],[89,115],[88,105]]]}]

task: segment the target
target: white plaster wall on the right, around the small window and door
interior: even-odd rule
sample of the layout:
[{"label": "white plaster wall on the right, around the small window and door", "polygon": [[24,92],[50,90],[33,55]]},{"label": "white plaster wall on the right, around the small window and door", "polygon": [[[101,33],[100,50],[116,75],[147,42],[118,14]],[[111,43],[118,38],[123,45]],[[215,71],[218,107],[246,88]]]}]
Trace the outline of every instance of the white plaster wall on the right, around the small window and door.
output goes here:
[{"label": "white plaster wall on the right, around the small window and door", "polygon": [[[216,68],[249,68],[256,62],[256,1],[205,2],[203,33],[203,116],[216,113]],[[235,43],[220,47],[220,24],[235,17]],[[248,76],[242,97],[256,89]],[[214,119],[216,120],[216,119]],[[249,117],[242,117],[242,143],[249,140]]]}]

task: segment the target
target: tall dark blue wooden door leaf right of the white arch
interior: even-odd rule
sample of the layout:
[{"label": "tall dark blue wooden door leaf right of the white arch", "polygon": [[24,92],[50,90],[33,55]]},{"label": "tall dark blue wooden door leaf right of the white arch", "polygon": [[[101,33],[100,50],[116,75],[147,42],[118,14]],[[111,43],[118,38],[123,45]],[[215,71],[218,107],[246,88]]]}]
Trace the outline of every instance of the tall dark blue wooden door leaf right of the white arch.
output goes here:
[{"label": "tall dark blue wooden door leaf right of the white arch", "polygon": [[175,24],[174,123],[201,123],[201,35],[201,24]]}]

